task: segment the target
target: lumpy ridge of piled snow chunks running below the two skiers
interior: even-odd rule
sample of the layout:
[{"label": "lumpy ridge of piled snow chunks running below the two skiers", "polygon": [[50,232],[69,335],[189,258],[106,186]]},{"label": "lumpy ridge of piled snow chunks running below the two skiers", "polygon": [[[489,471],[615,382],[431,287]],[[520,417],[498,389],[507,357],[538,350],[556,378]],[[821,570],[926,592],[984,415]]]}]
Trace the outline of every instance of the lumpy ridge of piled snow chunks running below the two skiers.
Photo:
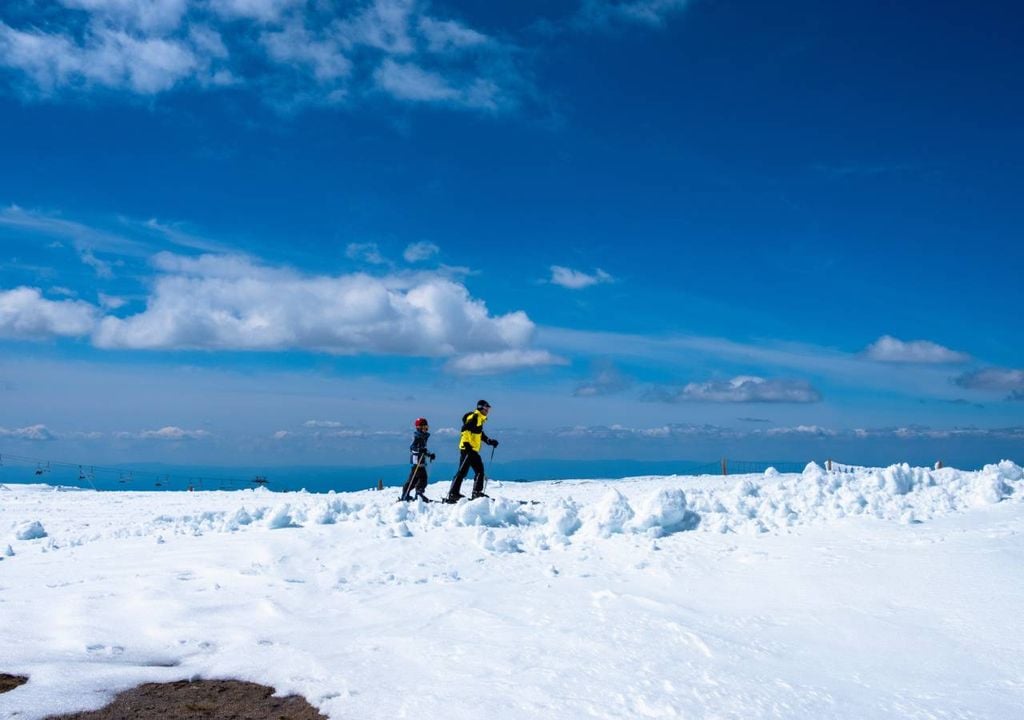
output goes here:
[{"label": "lumpy ridge of piled snow chunks running below the two skiers", "polygon": [[[46,485],[11,485],[8,498],[67,498],[70,511],[80,507],[80,522],[44,528],[40,519],[18,517],[12,538],[19,542],[49,538],[60,549],[102,537],[201,536],[208,533],[280,531],[355,523],[384,538],[409,538],[434,532],[477,528],[474,541],[488,552],[550,548],[584,539],[642,535],[660,538],[692,531],[711,533],[788,532],[848,517],[893,522],[924,522],[1000,502],[1024,500],[1024,470],[1011,462],[967,472],[907,464],[886,468],[809,463],[801,473],[729,477],[644,477],[608,481],[505,482],[492,500],[396,503],[395,492],[315,495],[279,494],[265,489],[237,493],[93,493],[54,494]],[[571,492],[572,495],[568,493]],[[97,527],[86,508],[121,498],[156,497],[162,512],[151,519]],[[522,496],[522,497],[518,497]],[[527,502],[528,500],[528,502]],[[38,501],[36,508],[38,510]],[[189,505],[185,512],[165,510]],[[47,525],[50,521],[47,521]],[[482,532],[489,530],[490,533]],[[17,543],[13,550],[17,550]]]}]

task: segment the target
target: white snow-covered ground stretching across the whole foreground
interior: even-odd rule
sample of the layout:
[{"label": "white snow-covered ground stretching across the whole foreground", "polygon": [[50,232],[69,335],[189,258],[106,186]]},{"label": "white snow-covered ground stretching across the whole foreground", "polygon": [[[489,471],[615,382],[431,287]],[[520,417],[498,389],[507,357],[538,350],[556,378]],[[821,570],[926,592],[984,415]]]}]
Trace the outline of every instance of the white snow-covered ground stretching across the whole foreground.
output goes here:
[{"label": "white snow-covered ground stretching across the whole foreground", "polygon": [[1024,717],[1013,463],[488,491],[0,486],[0,717],[189,677],[335,718]]}]

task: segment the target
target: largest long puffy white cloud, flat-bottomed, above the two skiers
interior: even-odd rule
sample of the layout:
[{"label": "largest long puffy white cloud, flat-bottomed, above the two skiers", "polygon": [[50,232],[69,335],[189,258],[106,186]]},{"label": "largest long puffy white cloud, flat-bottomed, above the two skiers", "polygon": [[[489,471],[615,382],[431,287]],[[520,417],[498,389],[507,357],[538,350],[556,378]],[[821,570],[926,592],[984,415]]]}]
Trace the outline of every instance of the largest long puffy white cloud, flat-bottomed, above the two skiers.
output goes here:
[{"label": "largest long puffy white cloud, flat-bottomed, above the two skiers", "polygon": [[437,274],[305,276],[242,256],[170,253],[156,264],[165,274],[145,310],[104,317],[97,346],[447,356],[524,351],[534,332],[525,313],[493,316]]}]

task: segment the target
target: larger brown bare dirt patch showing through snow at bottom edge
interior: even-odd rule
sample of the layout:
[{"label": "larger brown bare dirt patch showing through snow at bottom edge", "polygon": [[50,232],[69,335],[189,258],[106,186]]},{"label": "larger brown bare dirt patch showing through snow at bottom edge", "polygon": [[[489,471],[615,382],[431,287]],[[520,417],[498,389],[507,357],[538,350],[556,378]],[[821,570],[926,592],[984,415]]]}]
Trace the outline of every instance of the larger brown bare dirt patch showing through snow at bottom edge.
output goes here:
[{"label": "larger brown bare dirt patch showing through snow at bottom edge", "polygon": [[304,697],[271,697],[273,688],[239,680],[150,682],[99,710],[47,720],[327,720]]}]

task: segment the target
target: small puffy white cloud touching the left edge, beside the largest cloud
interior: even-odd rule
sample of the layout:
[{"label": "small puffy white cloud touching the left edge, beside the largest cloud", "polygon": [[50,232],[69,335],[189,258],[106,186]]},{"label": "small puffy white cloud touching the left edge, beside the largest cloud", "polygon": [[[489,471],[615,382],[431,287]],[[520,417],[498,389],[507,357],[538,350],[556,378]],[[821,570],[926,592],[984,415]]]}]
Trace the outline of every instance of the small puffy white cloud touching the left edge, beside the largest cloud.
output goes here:
[{"label": "small puffy white cloud touching the left edge, beside the largest cloud", "polygon": [[88,335],[97,308],[82,300],[47,300],[39,288],[0,291],[0,337],[41,339]]}]

